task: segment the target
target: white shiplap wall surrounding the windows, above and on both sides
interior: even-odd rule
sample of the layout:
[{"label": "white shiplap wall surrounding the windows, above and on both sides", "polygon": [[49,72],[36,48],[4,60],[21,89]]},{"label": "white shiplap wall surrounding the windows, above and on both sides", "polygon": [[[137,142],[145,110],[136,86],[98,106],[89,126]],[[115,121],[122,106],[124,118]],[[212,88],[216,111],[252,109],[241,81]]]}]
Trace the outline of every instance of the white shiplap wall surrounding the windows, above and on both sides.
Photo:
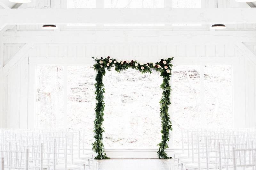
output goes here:
[{"label": "white shiplap wall surrounding the windows, above and on both sides", "polygon": [[[19,44],[4,44],[4,61],[15,54]],[[17,47],[18,46],[18,47]],[[10,49],[11,48],[11,49]],[[13,51],[14,50],[14,51]],[[13,52],[12,52],[13,51]],[[241,54],[234,44],[35,44],[25,57],[4,73],[4,121],[5,128],[27,128],[28,124],[28,75],[29,58],[113,56],[126,60],[133,57],[200,57],[207,60],[214,57],[239,60],[233,65],[234,119],[236,127],[255,127],[255,64]],[[212,59],[213,58],[213,59]],[[217,63],[217,62],[216,62]],[[4,63],[5,64],[5,63]],[[195,63],[194,63],[195,64]],[[227,63],[226,63],[227,64]],[[33,84],[33,82],[32,82]],[[30,113],[31,114],[31,113]],[[33,113],[32,113],[33,114]]]}]

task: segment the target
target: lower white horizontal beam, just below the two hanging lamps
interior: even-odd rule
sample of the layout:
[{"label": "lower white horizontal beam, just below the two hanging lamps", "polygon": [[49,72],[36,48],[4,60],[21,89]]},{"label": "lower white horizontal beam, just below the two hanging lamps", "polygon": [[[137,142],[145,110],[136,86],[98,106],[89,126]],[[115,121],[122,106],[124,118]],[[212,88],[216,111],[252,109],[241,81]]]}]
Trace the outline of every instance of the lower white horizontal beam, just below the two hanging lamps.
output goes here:
[{"label": "lower white horizontal beam, just below the two hanging lamps", "polygon": [[34,31],[4,32],[3,43],[236,43],[256,42],[255,31]]}]

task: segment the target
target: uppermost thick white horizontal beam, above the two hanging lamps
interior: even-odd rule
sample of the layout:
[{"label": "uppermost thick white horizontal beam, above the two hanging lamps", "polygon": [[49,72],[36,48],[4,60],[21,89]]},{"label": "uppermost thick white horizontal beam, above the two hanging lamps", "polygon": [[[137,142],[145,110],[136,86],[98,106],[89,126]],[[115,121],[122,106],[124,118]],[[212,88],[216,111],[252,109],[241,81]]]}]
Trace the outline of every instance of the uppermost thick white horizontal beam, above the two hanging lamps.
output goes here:
[{"label": "uppermost thick white horizontal beam, above the two hanging lamps", "polygon": [[[29,16],[29,17],[28,17]],[[1,25],[68,23],[256,23],[255,8],[1,9]]]}]

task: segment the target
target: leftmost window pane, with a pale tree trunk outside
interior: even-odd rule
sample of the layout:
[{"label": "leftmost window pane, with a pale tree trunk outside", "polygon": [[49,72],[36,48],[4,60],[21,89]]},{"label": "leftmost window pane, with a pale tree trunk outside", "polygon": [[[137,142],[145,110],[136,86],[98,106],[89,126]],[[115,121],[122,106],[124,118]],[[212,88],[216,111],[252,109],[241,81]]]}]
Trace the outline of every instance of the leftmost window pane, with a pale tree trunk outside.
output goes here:
[{"label": "leftmost window pane, with a pale tree trunk outside", "polygon": [[36,67],[37,128],[64,128],[62,66]]}]

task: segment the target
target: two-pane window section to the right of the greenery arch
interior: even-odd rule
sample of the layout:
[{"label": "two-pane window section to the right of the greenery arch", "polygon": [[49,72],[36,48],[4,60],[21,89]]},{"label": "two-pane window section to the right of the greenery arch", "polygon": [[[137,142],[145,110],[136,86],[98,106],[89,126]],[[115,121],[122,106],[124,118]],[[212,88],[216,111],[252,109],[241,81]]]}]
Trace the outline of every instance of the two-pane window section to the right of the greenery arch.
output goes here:
[{"label": "two-pane window section to the right of the greenery arch", "polygon": [[173,67],[174,146],[181,144],[181,129],[233,127],[231,70],[230,65]]}]

